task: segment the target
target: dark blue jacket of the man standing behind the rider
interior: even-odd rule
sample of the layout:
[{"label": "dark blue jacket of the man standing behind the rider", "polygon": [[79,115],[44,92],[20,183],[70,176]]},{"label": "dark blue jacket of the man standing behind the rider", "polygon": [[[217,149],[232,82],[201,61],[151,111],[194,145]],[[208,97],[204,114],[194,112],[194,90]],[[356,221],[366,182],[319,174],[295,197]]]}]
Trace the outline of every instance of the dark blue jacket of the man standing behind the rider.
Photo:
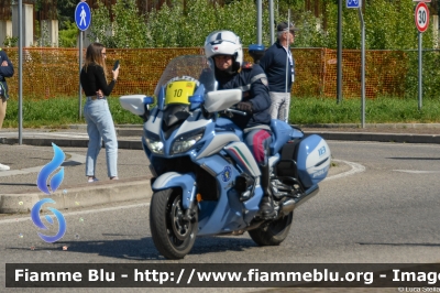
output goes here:
[{"label": "dark blue jacket of the man standing behind the rider", "polygon": [[[274,43],[260,59],[260,65],[267,75],[268,88],[275,93],[286,93],[286,62],[287,62],[287,93],[292,90],[292,74],[295,75],[295,58],[292,56],[293,66],[287,62],[286,50]],[[293,70],[292,70],[293,69]]]}]

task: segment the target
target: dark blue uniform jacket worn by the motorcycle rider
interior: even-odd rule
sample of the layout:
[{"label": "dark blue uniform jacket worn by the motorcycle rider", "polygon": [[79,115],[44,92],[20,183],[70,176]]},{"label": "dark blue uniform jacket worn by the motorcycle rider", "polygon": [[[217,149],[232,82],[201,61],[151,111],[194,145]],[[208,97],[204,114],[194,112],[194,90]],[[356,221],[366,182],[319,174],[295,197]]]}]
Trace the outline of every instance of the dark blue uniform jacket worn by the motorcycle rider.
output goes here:
[{"label": "dark blue uniform jacket worn by the motorcycle rider", "polygon": [[257,64],[244,64],[241,70],[230,75],[216,70],[219,89],[239,88],[243,91],[242,101],[252,102],[252,115],[233,115],[230,118],[241,129],[258,124],[271,124],[271,98],[268,95],[267,78]]}]

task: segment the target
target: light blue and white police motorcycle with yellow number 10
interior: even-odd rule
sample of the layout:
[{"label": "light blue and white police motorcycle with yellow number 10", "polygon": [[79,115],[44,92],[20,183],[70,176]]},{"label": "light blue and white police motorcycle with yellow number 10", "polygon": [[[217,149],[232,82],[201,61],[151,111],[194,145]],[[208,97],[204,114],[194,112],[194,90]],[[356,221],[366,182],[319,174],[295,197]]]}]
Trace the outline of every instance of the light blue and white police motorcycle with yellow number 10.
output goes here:
[{"label": "light blue and white police motorcycle with yellow number 10", "polygon": [[[120,97],[122,108],[143,118],[142,145],[151,165],[150,227],[156,249],[183,259],[197,236],[242,235],[260,246],[287,237],[294,209],[316,195],[330,167],[330,149],[317,134],[272,120],[270,182],[243,142],[243,131],[220,111],[232,107],[240,89],[216,90],[204,55],[170,61],[153,97]],[[152,108],[151,108],[152,107]],[[262,218],[260,202],[271,192],[276,216]]]}]

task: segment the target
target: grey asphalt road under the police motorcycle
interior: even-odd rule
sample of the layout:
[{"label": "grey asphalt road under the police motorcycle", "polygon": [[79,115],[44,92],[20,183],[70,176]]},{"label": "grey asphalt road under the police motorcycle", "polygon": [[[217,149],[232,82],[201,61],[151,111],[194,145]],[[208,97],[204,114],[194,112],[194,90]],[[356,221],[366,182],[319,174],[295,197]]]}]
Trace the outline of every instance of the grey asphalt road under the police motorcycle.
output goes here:
[{"label": "grey asphalt road under the police motorcycle", "polygon": [[[352,162],[359,172],[322,182],[320,193],[295,211],[289,236],[278,247],[257,247],[248,234],[204,237],[197,239],[184,260],[168,261],[154,248],[148,203],[128,202],[63,211],[67,232],[52,245],[38,238],[29,215],[1,217],[0,262],[438,262],[440,145],[342,141],[330,141],[329,145],[333,159]],[[66,251],[63,246],[67,247]],[[4,265],[0,267],[0,279],[2,291]],[[100,290],[81,290],[96,291]]]}]

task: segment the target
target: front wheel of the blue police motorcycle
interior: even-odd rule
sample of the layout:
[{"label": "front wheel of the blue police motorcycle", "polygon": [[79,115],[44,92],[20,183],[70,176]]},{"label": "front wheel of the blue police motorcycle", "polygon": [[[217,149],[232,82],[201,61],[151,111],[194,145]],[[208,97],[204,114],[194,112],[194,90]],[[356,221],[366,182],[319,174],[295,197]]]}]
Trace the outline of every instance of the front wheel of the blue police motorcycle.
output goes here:
[{"label": "front wheel of the blue police motorcycle", "polygon": [[197,213],[193,220],[184,218],[182,189],[154,193],[150,205],[150,229],[158,252],[167,259],[183,259],[191,250],[198,229]]}]

